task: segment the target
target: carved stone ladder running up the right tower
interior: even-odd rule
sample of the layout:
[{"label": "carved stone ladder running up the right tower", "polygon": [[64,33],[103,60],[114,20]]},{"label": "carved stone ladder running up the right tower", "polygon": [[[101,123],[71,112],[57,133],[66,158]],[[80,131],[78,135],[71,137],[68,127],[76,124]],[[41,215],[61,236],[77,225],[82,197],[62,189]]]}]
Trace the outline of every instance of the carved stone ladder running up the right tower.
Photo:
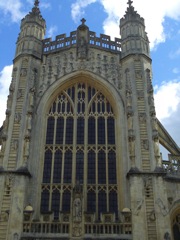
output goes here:
[{"label": "carved stone ladder running up the right tower", "polygon": [[[146,99],[144,81],[141,69],[141,62],[135,61],[135,77],[136,77],[136,90],[137,90],[137,106],[138,106],[138,117],[139,117],[139,129],[140,129],[140,141],[141,141],[141,158],[142,158],[142,171],[150,172],[150,154],[149,154],[149,143],[148,143],[148,132],[147,132],[147,111],[146,111]],[[147,218],[147,232],[148,240],[156,240],[156,219],[154,213],[154,193],[152,178],[148,177],[145,179],[145,208]]]}]

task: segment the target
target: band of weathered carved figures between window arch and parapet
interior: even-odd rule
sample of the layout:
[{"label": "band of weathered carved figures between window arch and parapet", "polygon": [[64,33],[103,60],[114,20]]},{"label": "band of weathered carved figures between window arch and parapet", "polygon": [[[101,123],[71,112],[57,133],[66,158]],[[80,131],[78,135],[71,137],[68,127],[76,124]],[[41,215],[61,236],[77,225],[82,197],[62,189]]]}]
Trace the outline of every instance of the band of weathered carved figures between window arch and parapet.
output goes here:
[{"label": "band of weathered carved figures between window arch and parapet", "polygon": [[[88,70],[99,76],[102,76],[115,85],[116,88],[122,88],[121,82],[121,66],[119,65],[118,59],[109,57],[108,55],[101,55],[91,50],[84,57],[83,48],[79,47],[77,50],[78,57],[74,51],[69,51],[66,54],[59,54],[58,56],[48,57],[47,61],[44,60],[44,65],[41,68],[39,89],[36,89],[38,94],[37,97],[41,97],[46,91],[47,87],[53,82],[57,81],[60,77],[77,71],[77,70]],[[88,56],[88,61],[87,61]],[[129,70],[126,73],[126,85],[127,89],[131,92],[130,86],[130,74]]]}]

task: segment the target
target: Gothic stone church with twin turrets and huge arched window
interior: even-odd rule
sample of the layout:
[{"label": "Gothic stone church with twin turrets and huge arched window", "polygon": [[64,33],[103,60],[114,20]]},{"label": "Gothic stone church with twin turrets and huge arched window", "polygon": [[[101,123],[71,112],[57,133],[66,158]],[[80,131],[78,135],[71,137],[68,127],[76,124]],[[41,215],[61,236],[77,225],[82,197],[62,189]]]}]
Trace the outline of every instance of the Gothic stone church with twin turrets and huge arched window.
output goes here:
[{"label": "Gothic stone church with twin turrets and huge arched window", "polygon": [[[0,240],[179,240],[180,149],[156,118],[144,19],[112,41],[22,19],[0,129]],[[164,161],[159,144],[169,152]]]}]

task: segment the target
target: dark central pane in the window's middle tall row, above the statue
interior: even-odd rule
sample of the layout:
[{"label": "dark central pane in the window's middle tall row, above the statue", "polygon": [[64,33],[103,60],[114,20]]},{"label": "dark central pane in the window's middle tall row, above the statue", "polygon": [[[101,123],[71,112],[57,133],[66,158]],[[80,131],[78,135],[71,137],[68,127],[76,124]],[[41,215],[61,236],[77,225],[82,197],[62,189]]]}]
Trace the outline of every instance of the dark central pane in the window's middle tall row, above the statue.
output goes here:
[{"label": "dark central pane in the window's middle tall row, above the statue", "polygon": [[76,153],[76,180],[83,183],[84,176],[84,153],[78,151]]}]

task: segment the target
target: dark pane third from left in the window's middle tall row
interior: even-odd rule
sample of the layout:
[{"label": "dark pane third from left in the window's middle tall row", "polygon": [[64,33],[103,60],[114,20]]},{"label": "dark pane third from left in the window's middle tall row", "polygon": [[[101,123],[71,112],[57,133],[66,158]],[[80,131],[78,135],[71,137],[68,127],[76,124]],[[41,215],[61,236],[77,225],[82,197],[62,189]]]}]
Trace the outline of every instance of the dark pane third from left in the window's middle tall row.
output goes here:
[{"label": "dark pane third from left in the window's middle tall row", "polygon": [[64,159],[64,183],[70,183],[72,176],[72,152],[67,151]]}]

